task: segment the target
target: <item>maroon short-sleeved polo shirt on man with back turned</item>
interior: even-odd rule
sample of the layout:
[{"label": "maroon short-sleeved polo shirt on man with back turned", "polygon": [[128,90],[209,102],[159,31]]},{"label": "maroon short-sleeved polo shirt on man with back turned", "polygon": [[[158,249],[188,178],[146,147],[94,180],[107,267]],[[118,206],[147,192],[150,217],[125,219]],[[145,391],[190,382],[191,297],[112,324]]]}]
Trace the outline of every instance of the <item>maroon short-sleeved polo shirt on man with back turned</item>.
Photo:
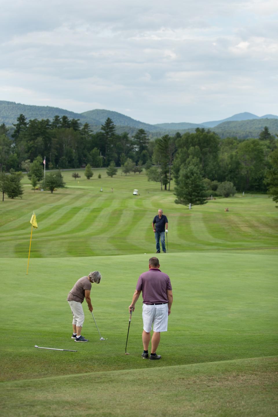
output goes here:
[{"label": "maroon short-sleeved polo shirt on man with back turned", "polygon": [[137,291],[142,291],[143,303],[168,303],[167,290],[172,290],[170,278],[158,268],[143,272],[138,278]]}]

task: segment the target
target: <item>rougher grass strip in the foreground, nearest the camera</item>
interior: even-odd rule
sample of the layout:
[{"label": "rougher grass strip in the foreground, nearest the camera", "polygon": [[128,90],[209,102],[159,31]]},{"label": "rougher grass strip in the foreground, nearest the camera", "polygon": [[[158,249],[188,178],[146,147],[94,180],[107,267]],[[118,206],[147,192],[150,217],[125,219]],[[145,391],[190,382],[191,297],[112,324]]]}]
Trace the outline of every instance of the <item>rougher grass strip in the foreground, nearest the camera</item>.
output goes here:
[{"label": "rougher grass strip in the foreground, nearest the camera", "polygon": [[266,357],[6,382],[0,398],[5,416],[275,417],[276,382]]}]

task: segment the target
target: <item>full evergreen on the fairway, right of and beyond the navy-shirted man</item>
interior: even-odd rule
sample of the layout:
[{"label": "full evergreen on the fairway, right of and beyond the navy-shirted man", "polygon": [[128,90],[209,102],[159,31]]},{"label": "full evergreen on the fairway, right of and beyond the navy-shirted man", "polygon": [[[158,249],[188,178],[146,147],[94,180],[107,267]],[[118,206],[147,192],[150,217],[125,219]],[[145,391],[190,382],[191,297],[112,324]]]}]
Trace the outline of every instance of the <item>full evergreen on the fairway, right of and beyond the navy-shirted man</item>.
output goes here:
[{"label": "full evergreen on the fairway, right of and beyond the navy-shirted man", "polygon": [[193,205],[207,203],[206,186],[198,166],[193,164],[187,167],[182,166],[176,183],[176,204],[189,205],[189,208],[191,208]]}]

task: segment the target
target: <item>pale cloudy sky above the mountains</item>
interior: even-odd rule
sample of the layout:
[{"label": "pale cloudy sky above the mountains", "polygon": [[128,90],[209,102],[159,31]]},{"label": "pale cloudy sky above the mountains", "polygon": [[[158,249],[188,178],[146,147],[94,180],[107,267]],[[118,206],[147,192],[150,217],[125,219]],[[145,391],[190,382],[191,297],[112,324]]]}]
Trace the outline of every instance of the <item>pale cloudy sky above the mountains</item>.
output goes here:
[{"label": "pale cloudy sky above the mountains", "polygon": [[278,115],[277,0],[0,0],[0,100],[145,123]]}]

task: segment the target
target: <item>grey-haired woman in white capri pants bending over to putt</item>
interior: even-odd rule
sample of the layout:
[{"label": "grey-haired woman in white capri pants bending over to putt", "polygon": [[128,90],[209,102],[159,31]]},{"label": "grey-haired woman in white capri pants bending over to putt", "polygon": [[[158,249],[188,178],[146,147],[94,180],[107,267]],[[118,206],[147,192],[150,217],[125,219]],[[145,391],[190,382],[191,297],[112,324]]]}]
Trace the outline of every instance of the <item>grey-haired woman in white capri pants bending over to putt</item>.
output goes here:
[{"label": "grey-haired woman in white capri pants bending over to putt", "polygon": [[96,284],[99,284],[100,279],[100,272],[90,272],[88,276],[83,276],[82,278],[78,279],[68,294],[68,304],[70,304],[70,309],[73,313],[73,335],[71,338],[75,339],[75,342],[88,342],[88,339],[85,339],[85,337],[81,336],[81,330],[85,319],[82,303],[85,298],[89,310],[93,311],[93,306],[90,299],[90,291],[92,288],[92,283],[95,282]]}]

